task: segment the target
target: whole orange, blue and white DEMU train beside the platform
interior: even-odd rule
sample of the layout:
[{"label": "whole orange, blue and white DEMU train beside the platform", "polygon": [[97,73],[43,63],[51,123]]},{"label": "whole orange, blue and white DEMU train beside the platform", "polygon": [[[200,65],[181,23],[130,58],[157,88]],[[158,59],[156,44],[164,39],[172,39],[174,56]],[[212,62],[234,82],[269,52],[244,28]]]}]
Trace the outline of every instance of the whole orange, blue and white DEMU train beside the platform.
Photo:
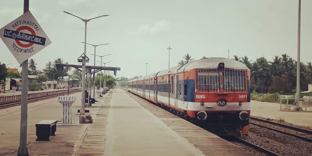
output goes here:
[{"label": "whole orange, blue and white DEMU train beside the platform", "polygon": [[128,91],[217,135],[248,134],[250,69],[204,58],[128,82]]}]

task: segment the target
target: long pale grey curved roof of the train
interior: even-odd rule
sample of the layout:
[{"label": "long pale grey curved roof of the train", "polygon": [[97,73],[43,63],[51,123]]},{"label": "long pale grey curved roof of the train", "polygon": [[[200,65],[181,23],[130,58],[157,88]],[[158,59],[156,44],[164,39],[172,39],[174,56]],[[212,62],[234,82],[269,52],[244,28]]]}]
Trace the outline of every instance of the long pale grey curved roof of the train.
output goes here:
[{"label": "long pale grey curved roof of the train", "polygon": [[137,80],[144,80],[144,79],[148,79],[148,78],[152,78],[152,77],[156,77],[156,76],[165,76],[165,75],[169,75],[169,74],[177,74],[177,73],[181,73],[184,71],[190,71],[192,69],[195,68],[217,68],[218,64],[220,62],[224,63],[224,67],[225,68],[236,68],[236,69],[247,69],[249,70],[249,68],[236,60],[232,60],[232,59],[227,59],[227,58],[221,58],[221,57],[210,57],[210,58],[204,58],[204,59],[200,59],[200,60],[196,60],[193,62],[189,62],[185,65],[181,65],[181,66],[175,66],[169,69],[165,69],[163,71],[159,71],[157,73],[153,73],[147,76],[142,76],[139,77],[137,79],[133,79],[130,80],[129,82],[132,81],[137,81]]}]

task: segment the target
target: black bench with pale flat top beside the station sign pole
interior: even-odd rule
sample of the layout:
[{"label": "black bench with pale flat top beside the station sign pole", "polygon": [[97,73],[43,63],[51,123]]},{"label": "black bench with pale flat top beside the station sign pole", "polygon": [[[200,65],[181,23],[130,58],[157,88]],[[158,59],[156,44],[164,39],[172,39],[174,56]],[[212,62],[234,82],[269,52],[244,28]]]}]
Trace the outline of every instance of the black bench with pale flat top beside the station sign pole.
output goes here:
[{"label": "black bench with pale flat top beside the station sign pole", "polygon": [[36,124],[36,141],[51,141],[50,136],[55,136],[57,120],[42,120]]}]

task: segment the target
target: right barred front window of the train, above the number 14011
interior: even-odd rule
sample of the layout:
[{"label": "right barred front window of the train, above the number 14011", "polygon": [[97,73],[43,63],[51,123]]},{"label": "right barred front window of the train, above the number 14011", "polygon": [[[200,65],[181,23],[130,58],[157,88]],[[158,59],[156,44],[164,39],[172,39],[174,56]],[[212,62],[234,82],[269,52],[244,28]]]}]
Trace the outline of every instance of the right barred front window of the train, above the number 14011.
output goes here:
[{"label": "right barred front window of the train, above the number 14011", "polygon": [[225,90],[245,90],[246,73],[245,70],[225,70],[222,72],[223,89]]}]

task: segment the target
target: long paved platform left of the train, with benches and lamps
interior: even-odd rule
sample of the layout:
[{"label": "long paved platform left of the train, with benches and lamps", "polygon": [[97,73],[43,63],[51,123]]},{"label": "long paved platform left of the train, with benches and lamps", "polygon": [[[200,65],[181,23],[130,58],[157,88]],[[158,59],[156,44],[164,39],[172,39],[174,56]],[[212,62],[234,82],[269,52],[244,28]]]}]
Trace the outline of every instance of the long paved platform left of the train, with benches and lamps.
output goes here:
[{"label": "long paved platform left of the train, with benches and lamps", "polygon": [[[57,124],[51,141],[35,141],[35,124],[61,120],[56,98],[28,105],[27,147],[30,155],[253,155],[188,121],[128,93],[112,89],[91,107],[92,124],[80,124],[81,93],[72,104],[73,124]],[[20,106],[0,110],[0,155],[17,155]]]}]

